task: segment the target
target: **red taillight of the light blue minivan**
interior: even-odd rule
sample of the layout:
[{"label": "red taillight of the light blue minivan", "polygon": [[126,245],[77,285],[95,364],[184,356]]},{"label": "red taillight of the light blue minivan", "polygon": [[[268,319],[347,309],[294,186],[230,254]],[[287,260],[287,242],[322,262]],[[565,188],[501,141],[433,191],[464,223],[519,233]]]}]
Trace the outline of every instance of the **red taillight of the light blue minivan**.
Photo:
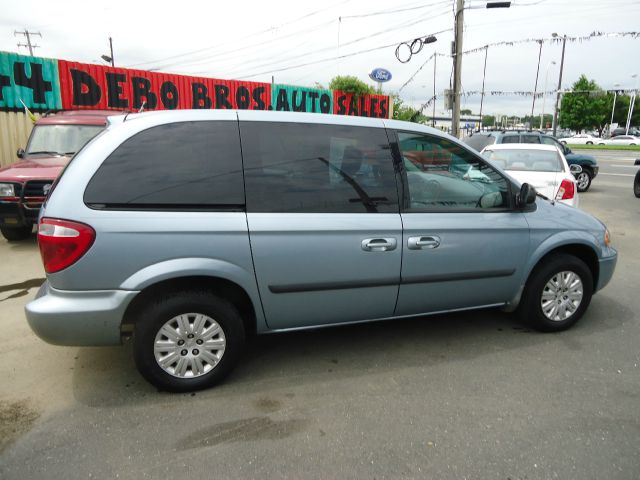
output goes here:
[{"label": "red taillight of the light blue minivan", "polygon": [[73,265],[93,245],[96,232],[84,223],[43,218],[38,225],[38,246],[47,273]]}]

